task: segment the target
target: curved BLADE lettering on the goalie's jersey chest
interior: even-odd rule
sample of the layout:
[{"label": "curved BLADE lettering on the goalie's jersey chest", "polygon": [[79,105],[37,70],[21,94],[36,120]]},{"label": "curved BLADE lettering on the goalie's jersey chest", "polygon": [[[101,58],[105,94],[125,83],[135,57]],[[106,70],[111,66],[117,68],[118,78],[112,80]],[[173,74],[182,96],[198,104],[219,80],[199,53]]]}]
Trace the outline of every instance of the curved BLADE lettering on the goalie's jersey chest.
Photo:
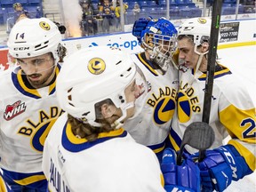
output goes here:
[{"label": "curved BLADE lettering on the goalie's jersey chest", "polygon": [[147,103],[149,106],[155,107],[156,102],[161,98],[163,98],[164,96],[171,96],[173,99],[175,99],[176,93],[177,91],[175,89],[171,89],[170,87],[165,87],[165,89],[160,88],[158,95],[156,95],[155,93],[152,93],[151,94],[152,98],[149,98],[147,100]]}]

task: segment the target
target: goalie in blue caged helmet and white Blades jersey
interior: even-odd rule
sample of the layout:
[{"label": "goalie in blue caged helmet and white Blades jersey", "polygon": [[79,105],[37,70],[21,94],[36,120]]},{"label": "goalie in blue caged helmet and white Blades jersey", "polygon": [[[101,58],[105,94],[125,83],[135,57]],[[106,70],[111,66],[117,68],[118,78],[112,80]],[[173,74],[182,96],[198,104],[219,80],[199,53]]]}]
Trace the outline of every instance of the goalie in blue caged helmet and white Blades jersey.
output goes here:
[{"label": "goalie in blue caged helmet and white Blades jersey", "polygon": [[150,24],[139,35],[145,52],[132,55],[132,60],[146,76],[150,89],[147,100],[140,104],[143,107],[140,115],[126,121],[124,129],[134,140],[153,149],[161,161],[164,140],[176,108],[179,84],[178,71],[172,66],[177,30],[164,18],[152,20]]}]

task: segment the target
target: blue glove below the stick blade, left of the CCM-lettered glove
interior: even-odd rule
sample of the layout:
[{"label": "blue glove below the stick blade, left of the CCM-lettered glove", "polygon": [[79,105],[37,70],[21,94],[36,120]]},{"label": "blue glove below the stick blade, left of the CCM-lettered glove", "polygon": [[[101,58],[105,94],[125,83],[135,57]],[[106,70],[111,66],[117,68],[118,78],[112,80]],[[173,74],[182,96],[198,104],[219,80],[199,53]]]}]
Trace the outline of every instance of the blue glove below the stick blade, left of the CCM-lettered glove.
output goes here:
[{"label": "blue glove below the stick blade, left of the CCM-lettered glove", "polygon": [[200,170],[189,156],[184,156],[181,165],[176,164],[176,152],[164,150],[161,170],[164,174],[164,188],[171,191],[200,191]]}]

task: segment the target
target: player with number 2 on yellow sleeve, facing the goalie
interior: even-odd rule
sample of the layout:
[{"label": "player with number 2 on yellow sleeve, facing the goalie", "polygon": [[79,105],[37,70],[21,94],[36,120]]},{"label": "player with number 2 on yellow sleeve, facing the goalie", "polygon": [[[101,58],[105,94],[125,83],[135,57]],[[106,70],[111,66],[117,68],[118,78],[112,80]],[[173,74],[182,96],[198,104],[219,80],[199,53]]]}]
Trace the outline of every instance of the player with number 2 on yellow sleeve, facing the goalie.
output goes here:
[{"label": "player with number 2 on yellow sleeve, facing the goalie", "polygon": [[[211,20],[206,18],[186,20],[178,29],[179,59],[183,60],[181,65],[188,71],[180,73],[178,112],[172,118],[172,147],[176,150],[180,149],[186,127],[202,121],[210,33]],[[223,191],[232,180],[242,179],[255,170],[256,123],[255,107],[243,81],[218,60],[209,124],[215,140],[212,149],[206,151],[204,160],[198,163],[202,186],[207,191]],[[222,140],[228,134],[231,140],[223,145]],[[195,152],[193,148],[187,150]]]}]

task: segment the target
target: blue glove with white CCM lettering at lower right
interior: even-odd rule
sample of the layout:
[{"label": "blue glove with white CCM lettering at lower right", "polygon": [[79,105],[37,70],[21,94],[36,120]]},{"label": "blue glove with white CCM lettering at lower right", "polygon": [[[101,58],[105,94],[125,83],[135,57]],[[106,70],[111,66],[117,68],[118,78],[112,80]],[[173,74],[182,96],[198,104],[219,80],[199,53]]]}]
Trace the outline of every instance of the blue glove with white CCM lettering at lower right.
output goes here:
[{"label": "blue glove with white CCM lettering at lower right", "polygon": [[198,163],[198,167],[202,191],[223,191],[232,180],[239,180],[244,175],[252,173],[244,157],[240,156],[232,145],[207,150],[206,157]]}]

